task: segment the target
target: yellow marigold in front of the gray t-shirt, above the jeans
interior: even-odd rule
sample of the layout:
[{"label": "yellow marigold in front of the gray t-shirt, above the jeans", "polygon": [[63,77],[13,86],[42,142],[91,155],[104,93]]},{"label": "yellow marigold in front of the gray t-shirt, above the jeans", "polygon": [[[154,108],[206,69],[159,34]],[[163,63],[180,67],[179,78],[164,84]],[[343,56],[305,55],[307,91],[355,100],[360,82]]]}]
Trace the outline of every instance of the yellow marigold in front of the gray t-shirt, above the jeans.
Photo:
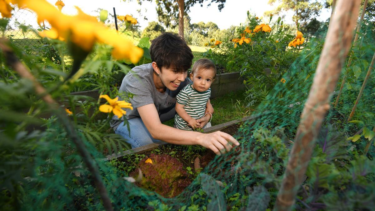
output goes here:
[{"label": "yellow marigold in front of the gray t-shirt, above the jeans", "polygon": [[116,115],[118,118],[121,118],[123,115],[126,114],[126,111],[124,109],[131,109],[133,110],[132,104],[125,101],[118,101],[118,97],[111,99],[108,95],[100,95],[99,98],[104,98],[109,102],[110,104],[103,104],[99,106],[99,111],[104,113],[110,113],[113,112],[114,115]]}]

